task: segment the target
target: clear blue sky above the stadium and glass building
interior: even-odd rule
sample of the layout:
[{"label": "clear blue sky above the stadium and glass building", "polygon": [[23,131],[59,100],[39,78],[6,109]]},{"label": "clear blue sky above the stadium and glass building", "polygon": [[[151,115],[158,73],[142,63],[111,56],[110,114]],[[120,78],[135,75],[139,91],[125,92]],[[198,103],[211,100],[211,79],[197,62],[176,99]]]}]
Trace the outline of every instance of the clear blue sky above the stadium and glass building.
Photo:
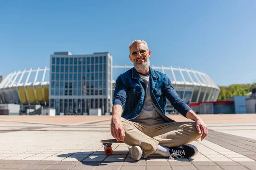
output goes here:
[{"label": "clear blue sky above the stadium and glass building", "polygon": [[204,72],[218,85],[256,82],[256,1],[0,0],[0,74],[49,67],[50,54],[108,51],[132,65],[148,42],[151,65]]}]

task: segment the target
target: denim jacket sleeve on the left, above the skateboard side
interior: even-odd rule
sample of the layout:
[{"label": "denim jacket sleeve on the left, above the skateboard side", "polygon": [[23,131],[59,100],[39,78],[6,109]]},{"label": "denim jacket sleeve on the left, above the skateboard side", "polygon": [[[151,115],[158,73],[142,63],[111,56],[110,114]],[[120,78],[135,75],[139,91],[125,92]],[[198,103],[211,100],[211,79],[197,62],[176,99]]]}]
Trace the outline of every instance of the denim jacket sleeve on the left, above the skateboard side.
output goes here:
[{"label": "denim jacket sleeve on the left, above the skateboard side", "polygon": [[116,79],[116,86],[114,91],[114,97],[113,97],[113,106],[114,105],[121,105],[122,109],[124,110],[125,102],[126,102],[126,92],[127,88],[122,81],[122,77],[119,76]]}]

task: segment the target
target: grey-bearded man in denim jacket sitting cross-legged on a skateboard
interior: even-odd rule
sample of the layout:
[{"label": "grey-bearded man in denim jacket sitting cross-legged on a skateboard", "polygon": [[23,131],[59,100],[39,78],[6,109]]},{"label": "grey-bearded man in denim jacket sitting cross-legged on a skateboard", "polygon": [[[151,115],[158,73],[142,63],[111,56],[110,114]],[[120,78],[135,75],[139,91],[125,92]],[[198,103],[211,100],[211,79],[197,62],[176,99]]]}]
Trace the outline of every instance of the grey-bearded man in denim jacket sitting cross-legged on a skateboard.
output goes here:
[{"label": "grey-bearded man in denim jacket sitting cross-legged on a skateboard", "polygon": [[[130,145],[131,158],[159,153],[164,157],[190,158],[198,152],[188,144],[207,136],[203,120],[180,99],[166,74],[149,67],[151,51],[143,40],[131,42],[130,60],[134,68],[116,79],[111,134]],[[165,116],[166,98],[173,107],[194,122],[175,122]]]}]

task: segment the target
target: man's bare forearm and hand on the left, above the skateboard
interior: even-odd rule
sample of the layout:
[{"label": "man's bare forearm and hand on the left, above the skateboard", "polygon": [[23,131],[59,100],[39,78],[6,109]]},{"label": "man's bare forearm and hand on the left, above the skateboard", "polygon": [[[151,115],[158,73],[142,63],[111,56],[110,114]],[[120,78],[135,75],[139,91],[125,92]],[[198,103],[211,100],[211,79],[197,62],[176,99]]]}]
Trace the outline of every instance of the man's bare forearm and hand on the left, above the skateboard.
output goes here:
[{"label": "man's bare forearm and hand on the left, above the skateboard", "polygon": [[122,125],[121,119],[112,117],[111,134],[117,141],[123,141],[125,137],[125,127]]}]

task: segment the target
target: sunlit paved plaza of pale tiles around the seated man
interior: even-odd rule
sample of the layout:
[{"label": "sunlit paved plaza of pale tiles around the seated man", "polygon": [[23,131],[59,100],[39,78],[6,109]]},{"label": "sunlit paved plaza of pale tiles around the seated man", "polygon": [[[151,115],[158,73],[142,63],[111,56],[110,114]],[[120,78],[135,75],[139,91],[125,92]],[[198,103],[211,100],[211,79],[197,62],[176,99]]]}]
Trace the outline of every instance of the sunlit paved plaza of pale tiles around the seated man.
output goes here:
[{"label": "sunlit paved plaza of pale tiles around the seated man", "polygon": [[209,134],[191,143],[197,156],[140,161],[126,144],[113,144],[105,155],[100,140],[113,138],[111,116],[0,116],[0,170],[256,170],[256,114],[200,116]]}]

